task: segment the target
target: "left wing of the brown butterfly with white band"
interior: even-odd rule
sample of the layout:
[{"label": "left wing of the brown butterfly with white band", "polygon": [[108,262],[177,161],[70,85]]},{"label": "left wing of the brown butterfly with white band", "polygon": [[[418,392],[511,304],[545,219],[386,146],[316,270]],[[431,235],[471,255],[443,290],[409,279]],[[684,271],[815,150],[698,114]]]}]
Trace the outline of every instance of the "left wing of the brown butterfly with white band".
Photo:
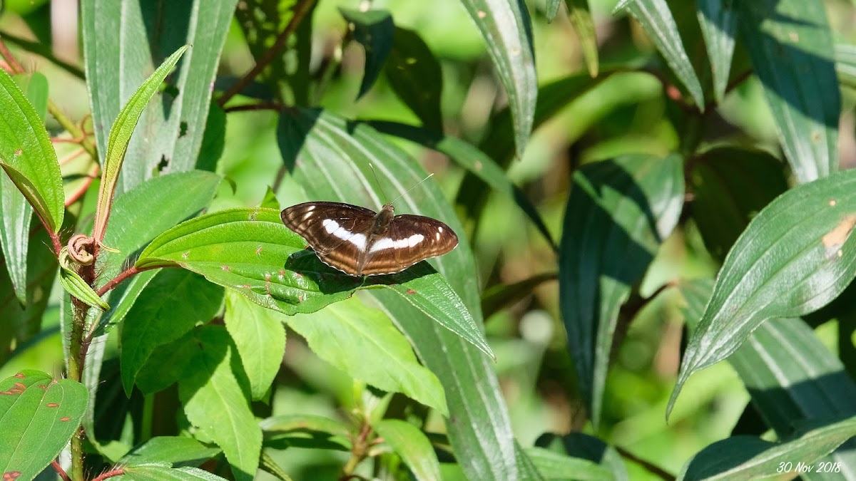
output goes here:
[{"label": "left wing of the brown butterfly with white band", "polygon": [[374,211],[340,202],[306,202],[282,210],[288,229],[306,239],[324,264],[359,276],[357,259],[366,250]]}]

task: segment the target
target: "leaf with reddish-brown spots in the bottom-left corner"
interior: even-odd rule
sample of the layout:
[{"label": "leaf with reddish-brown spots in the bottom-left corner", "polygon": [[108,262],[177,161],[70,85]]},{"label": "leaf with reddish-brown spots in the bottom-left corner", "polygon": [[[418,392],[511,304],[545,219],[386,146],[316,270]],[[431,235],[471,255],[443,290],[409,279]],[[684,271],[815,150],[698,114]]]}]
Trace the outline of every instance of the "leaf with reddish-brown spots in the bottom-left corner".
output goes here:
[{"label": "leaf with reddish-brown spots in the bottom-left corner", "polygon": [[35,478],[77,431],[88,396],[83,384],[44,372],[0,381],[0,472]]}]

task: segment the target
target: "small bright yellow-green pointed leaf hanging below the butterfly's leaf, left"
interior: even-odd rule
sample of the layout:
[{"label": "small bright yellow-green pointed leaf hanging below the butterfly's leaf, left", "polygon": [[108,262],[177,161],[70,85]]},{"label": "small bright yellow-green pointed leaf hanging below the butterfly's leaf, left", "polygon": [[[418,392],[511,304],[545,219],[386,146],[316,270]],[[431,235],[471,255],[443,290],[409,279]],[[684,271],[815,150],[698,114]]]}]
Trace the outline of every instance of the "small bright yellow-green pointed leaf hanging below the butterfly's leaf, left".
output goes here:
[{"label": "small bright yellow-green pointed leaf hanging below the butterfly's leaf, left", "polygon": [[270,390],[285,353],[285,316],[265,309],[235,291],[226,293],[223,321],[241,356],[252,399],[258,401]]}]

